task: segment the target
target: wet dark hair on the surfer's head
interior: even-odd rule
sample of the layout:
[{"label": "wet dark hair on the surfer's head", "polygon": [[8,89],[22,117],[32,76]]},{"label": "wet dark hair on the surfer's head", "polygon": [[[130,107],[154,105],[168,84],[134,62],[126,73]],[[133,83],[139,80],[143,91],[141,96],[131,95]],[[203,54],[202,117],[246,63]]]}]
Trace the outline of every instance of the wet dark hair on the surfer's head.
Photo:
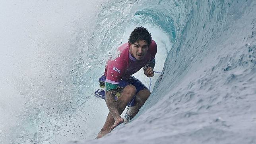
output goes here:
[{"label": "wet dark hair on the surfer's head", "polygon": [[145,27],[136,27],[129,36],[128,43],[134,44],[139,40],[145,40],[149,46],[151,44],[151,39],[151,33],[149,33]]}]

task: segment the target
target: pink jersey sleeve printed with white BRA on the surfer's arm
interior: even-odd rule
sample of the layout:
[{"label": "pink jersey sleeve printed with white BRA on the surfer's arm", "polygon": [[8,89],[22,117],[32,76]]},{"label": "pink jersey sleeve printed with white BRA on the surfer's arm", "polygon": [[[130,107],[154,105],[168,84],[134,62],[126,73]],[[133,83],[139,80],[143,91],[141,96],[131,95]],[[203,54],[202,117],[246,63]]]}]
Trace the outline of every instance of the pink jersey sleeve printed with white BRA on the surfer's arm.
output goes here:
[{"label": "pink jersey sleeve printed with white BRA on the surfer's arm", "polygon": [[111,84],[118,84],[124,74],[126,68],[126,60],[122,56],[108,61],[106,82]]}]

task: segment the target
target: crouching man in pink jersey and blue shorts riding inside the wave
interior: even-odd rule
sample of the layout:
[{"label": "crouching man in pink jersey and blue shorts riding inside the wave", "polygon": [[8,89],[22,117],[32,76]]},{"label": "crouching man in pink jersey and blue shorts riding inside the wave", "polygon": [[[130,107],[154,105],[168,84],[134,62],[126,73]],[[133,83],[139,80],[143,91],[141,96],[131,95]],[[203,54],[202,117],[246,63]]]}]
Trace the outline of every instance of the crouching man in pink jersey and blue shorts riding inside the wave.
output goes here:
[{"label": "crouching man in pink jersey and blue shorts riding inside the wave", "polygon": [[118,47],[118,51],[120,56],[108,60],[105,74],[99,79],[100,85],[106,87],[105,97],[101,98],[105,98],[109,115],[97,138],[124,122],[120,115],[126,106],[130,108],[125,118],[131,120],[151,94],[140,80],[132,76],[142,67],[147,77],[154,75],[157,44],[152,40],[151,34],[144,27],[136,27],[128,42]]}]

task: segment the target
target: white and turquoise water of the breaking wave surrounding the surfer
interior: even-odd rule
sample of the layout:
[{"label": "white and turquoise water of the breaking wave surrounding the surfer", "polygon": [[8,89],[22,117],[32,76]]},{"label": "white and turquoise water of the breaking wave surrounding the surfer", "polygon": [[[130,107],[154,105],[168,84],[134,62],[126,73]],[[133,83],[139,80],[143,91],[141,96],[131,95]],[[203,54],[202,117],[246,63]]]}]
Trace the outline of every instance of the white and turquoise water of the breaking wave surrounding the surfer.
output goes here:
[{"label": "white and turquoise water of the breaking wave surrounding the surfer", "polygon": [[[47,18],[50,14],[42,14],[40,19],[50,23],[39,29],[43,22],[37,18],[39,26],[35,27],[43,38],[39,34],[27,38],[33,41],[35,47],[29,48],[35,53],[30,54],[37,63],[24,60],[37,69],[23,79],[17,78],[22,84],[3,84],[10,91],[16,89],[15,94],[7,91],[12,101],[21,100],[19,108],[9,108],[9,101],[1,95],[6,101],[1,103],[2,108],[16,117],[9,127],[6,123],[13,118],[11,115],[0,121],[0,142],[256,143],[254,0],[47,4],[56,16],[55,23]],[[93,14],[83,11],[87,4]],[[45,12],[33,6],[38,13]],[[63,20],[60,17],[66,10],[70,16]],[[146,27],[157,42],[155,71],[162,73],[152,78],[152,94],[130,123],[93,140],[108,113],[104,100],[93,96],[97,80],[108,56],[114,55],[138,26]],[[27,29],[33,32],[35,27]],[[48,32],[50,35],[45,32],[48,29],[53,31]],[[21,71],[26,71],[23,67]],[[149,79],[141,71],[135,76],[149,86]],[[21,97],[13,97],[17,94]]]}]

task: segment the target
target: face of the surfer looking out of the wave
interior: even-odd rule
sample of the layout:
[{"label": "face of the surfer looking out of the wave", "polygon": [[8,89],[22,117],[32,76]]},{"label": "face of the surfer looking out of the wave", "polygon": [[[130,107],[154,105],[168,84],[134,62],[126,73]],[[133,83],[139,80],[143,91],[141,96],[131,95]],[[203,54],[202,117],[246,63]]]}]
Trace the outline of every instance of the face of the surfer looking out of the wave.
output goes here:
[{"label": "face of the surfer looking out of the wave", "polygon": [[130,52],[136,60],[143,60],[147,54],[148,45],[145,40],[139,40],[134,44],[130,44]]}]

